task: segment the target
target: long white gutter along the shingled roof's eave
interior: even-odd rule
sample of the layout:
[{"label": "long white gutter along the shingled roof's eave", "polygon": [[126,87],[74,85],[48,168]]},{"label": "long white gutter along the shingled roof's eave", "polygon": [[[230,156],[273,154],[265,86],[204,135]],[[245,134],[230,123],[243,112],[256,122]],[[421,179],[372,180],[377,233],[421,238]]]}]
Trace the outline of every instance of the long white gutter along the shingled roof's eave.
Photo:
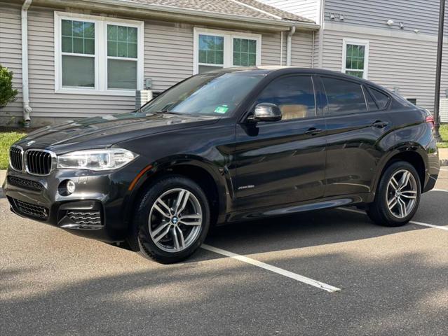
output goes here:
[{"label": "long white gutter along the shingled roof's eave", "polygon": [[[86,9],[86,7],[90,9],[97,10],[109,10],[113,11],[114,14],[120,10],[133,11],[142,15],[142,10],[152,11],[153,16],[163,16],[168,18],[171,16],[173,20],[179,20],[176,16],[179,15],[188,15],[188,16],[196,16],[202,17],[205,21],[215,22],[215,25],[219,25],[220,22],[218,20],[223,20],[223,22],[229,23],[229,20],[233,20],[236,22],[240,22],[241,25],[249,26],[249,25],[263,25],[265,29],[268,30],[276,30],[274,27],[278,27],[278,31],[287,31],[291,26],[297,27],[299,29],[304,30],[317,30],[320,28],[320,25],[316,25],[314,22],[301,22],[301,21],[293,21],[293,20],[275,20],[275,19],[267,19],[267,18],[250,18],[247,16],[241,15],[232,15],[225,13],[215,13],[207,10],[196,10],[196,9],[185,9],[185,8],[177,8],[171,6],[163,6],[163,5],[154,5],[151,3],[139,3],[135,1],[129,0],[81,0],[81,1],[73,1],[73,0],[36,0],[36,5],[43,6],[59,6],[62,8],[82,8]],[[113,7],[116,6],[116,7]],[[193,20],[194,22],[197,22]]]}]

